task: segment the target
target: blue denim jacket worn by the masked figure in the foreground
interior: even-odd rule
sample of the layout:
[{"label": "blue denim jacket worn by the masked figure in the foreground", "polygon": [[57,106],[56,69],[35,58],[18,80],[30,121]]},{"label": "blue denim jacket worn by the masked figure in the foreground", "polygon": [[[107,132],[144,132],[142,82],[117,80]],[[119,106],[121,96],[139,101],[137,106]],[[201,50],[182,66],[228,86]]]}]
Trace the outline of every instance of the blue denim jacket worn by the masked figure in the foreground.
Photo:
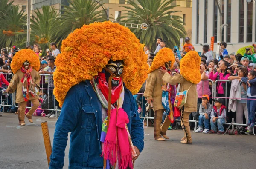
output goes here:
[{"label": "blue denim jacket worn by the masked figure in the foreground", "polygon": [[[122,108],[130,120],[128,129],[132,142],[141,152],[144,147],[143,123],[135,108],[134,98],[126,88]],[[90,81],[73,86],[67,92],[56,122],[49,169],[63,168],[69,132],[69,169],[102,169],[101,129],[102,105]]]}]

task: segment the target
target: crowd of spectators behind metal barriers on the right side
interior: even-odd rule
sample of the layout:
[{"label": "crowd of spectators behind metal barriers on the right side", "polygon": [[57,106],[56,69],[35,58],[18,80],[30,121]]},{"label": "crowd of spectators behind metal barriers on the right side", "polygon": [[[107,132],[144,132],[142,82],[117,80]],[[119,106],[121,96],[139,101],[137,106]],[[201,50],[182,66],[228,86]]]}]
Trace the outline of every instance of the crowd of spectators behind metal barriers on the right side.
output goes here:
[{"label": "crowd of spectators behind metal barriers on the right side", "polygon": [[[148,54],[150,66],[154,62],[154,56],[164,47],[161,46],[162,42],[165,43],[162,38],[157,39],[157,49],[154,53],[150,53],[148,47],[145,47],[144,51],[145,54]],[[186,37],[185,42],[181,57],[194,50],[189,37]],[[220,43],[218,59],[214,59],[209,45],[202,47],[200,55],[201,82],[197,85],[198,112],[192,113],[191,120],[192,118],[199,120],[196,132],[223,134],[224,128],[228,126],[225,123],[231,123],[234,119],[235,123],[247,124],[247,127],[238,125],[236,129],[250,135],[253,133],[256,112],[256,57],[253,54],[256,53],[256,44],[253,44],[253,49],[246,49],[244,55],[229,54],[226,47],[227,43]],[[176,74],[179,73],[180,60],[177,51],[173,49],[173,52],[175,64],[172,74]],[[212,93],[214,91],[213,84],[216,86],[216,97]],[[139,101],[138,97],[139,95],[135,96],[137,104],[142,105],[143,98]],[[215,103],[212,104],[212,101]],[[138,108],[139,112],[143,112],[145,115],[145,110],[141,106]],[[169,129],[172,128],[180,127],[174,123],[169,127]]]}]

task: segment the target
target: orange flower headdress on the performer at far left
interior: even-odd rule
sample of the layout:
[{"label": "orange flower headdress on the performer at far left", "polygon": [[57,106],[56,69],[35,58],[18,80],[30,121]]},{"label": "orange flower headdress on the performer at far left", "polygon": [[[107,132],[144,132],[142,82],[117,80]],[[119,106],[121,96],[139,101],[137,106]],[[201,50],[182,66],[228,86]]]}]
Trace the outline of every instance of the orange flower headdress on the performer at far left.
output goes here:
[{"label": "orange flower headdress on the performer at far left", "polygon": [[30,49],[22,49],[15,54],[13,57],[11,68],[12,72],[15,74],[23,66],[25,61],[28,61],[30,66],[36,71],[40,69],[40,60],[39,57],[35,54],[34,51]]}]

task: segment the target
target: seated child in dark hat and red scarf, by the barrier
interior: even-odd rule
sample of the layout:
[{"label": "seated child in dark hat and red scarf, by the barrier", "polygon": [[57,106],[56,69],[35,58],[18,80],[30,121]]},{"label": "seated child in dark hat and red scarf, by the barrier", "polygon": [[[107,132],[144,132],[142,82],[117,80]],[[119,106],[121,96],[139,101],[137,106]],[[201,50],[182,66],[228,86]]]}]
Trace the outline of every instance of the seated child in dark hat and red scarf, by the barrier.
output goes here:
[{"label": "seated child in dark hat and red scarf, by the barrier", "polygon": [[215,104],[211,112],[211,126],[209,133],[224,134],[223,124],[226,122],[225,100],[222,98],[212,99]]}]

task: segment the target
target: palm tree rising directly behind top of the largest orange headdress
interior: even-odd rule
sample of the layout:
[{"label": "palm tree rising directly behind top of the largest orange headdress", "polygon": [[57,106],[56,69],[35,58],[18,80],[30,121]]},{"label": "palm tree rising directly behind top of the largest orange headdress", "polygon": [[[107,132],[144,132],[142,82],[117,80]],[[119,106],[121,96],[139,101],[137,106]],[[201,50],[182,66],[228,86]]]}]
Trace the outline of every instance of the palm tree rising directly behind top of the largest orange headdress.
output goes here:
[{"label": "palm tree rising directly behind top of the largest orange headdress", "polygon": [[64,39],[70,32],[81,28],[84,24],[88,25],[94,22],[102,22],[106,19],[101,6],[93,0],[68,0],[70,6],[64,6],[61,15],[61,29],[57,28],[56,36],[58,39]]}]

